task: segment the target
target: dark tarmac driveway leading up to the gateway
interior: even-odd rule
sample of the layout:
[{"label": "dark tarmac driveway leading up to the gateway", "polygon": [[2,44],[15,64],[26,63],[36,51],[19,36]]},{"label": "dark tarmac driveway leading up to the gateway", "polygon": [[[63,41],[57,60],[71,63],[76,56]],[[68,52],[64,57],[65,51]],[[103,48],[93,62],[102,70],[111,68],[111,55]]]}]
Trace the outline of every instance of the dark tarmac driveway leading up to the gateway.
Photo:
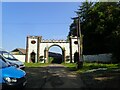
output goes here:
[{"label": "dark tarmac driveway leading up to the gateway", "polygon": [[47,67],[26,68],[26,88],[84,88],[79,75],[69,71],[61,64],[51,64]]}]

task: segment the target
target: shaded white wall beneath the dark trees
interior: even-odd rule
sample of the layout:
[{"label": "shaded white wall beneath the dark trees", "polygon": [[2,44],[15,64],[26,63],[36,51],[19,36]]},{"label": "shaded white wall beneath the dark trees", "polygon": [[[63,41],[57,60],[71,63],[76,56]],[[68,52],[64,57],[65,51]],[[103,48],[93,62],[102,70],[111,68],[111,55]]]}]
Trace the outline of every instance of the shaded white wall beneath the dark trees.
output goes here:
[{"label": "shaded white wall beneath the dark trees", "polygon": [[83,55],[84,61],[87,62],[110,62],[112,54]]}]

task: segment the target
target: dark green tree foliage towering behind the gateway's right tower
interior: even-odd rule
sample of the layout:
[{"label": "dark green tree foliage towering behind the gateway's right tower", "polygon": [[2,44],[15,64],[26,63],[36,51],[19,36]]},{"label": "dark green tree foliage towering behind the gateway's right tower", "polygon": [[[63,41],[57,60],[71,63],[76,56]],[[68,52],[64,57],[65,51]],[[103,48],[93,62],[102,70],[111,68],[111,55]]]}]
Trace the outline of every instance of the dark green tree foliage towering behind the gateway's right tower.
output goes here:
[{"label": "dark green tree foliage towering behind the gateway's right tower", "polygon": [[[77,10],[83,34],[83,54],[113,53],[120,59],[120,2],[83,2]],[[69,35],[76,36],[76,22]]]}]

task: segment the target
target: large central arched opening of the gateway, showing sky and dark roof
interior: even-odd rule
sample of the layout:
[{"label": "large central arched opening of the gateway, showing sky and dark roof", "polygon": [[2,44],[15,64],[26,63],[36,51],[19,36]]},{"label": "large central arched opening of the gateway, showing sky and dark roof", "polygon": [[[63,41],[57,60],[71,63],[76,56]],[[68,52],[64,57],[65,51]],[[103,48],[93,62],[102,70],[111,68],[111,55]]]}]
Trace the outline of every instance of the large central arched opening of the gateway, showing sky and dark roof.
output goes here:
[{"label": "large central arched opening of the gateway, showing sky and dark roof", "polygon": [[61,64],[64,62],[64,51],[59,45],[52,45],[48,49],[48,62]]}]

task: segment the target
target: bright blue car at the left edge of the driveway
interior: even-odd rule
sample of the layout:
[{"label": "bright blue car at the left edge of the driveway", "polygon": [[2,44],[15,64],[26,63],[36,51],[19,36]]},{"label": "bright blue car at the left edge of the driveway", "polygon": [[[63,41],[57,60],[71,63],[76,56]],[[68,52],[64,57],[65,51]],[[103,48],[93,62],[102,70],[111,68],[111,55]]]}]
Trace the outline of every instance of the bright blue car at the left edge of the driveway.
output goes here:
[{"label": "bright blue car at the left edge of the driveway", "polygon": [[23,88],[26,85],[25,71],[7,64],[0,57],[0,87],[2,89]]}]

